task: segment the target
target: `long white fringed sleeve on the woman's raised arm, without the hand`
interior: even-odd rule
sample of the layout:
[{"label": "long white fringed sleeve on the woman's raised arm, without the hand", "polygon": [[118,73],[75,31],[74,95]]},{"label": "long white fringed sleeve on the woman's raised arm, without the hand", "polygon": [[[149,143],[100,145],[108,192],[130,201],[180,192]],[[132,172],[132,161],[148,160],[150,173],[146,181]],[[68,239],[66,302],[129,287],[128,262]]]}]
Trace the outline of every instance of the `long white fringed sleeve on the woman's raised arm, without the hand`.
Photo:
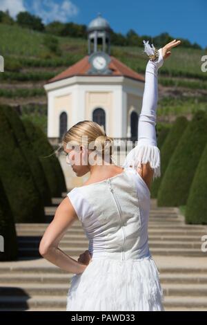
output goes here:
[{"label": "long white fringed sleeve on the woman's raised arm, without the hand", "polygon": [[157,121],[158,100],[158,69],[164,64],[164,58],[159,48],[159,57],[155,61],[149,59],[146,66],[145,86],[141,113],[138,124],[138,144],[126,156],[124,167],[132,165],[135,169],[141,163],[150,163],[154,169],[153,179],[160,176],[160,151],[157,147],[155,125]]}]

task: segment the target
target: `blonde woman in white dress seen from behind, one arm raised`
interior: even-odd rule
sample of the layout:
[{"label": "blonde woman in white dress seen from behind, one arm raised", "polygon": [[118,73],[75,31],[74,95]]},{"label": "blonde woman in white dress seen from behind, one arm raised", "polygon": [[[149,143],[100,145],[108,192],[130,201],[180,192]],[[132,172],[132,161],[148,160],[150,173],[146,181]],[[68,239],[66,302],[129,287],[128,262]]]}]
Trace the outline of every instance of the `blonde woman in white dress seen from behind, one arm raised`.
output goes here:
[{"label": "blonde woman in white dress seen from behind, one arm raised", "polygon": [[[155,132],[158,69],[180,41],[174,39],[159,50],[144,44],[150,59],[138,144],[124,165],[112,163],[112,138],[95,122],[81,121],[63,137],[73,171],[77,176],[90,171],[86,183],[72,189],[57,207],[39,245],[45,259],[74,273],[66,310],[164,310],[159,272],[148,248],[148,216],[150,184],[160,176]],[[58,247],[76,220],[89,239],[88,251],[78,261]]]}]

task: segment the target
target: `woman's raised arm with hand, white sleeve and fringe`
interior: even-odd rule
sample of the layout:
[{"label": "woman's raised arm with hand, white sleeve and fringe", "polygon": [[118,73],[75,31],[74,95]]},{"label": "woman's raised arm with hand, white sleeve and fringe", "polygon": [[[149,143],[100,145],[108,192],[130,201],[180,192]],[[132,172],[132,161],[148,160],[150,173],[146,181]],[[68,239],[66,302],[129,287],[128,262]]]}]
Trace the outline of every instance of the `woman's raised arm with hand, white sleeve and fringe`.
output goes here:
[{"label": "woman's raised arm with hand, white sleeve and fringe", "polygon": [[[138,143],[126,156],[124,167],[131,165],[143,178],[160,176],[160,151],[157,147],[155,125],[157,122],[158,69],[170,54],[172,47],[180,41],[171,41],[156,50],[144,41],[145,52],[150,57],[146,65],[144,96],[139,115]],[[150,180],[148,181],[150,183]]]}]

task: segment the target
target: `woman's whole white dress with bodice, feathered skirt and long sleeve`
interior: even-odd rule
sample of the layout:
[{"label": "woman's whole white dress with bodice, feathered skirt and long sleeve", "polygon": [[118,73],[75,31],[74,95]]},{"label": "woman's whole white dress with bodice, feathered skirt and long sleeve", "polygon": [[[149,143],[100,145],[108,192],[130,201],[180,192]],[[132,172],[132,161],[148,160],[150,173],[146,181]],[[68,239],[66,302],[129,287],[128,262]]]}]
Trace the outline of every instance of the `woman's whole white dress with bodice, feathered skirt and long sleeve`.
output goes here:
[{"label": "woman's whole white dress with bodice, feathered skirt and long sleeve", "polygon": [[123,172],[68,193],[92,260],[71,279],[67,311],[164,310],[159,271],[148,247],[150,190],[136,170],[149,161],[154,177],[160,175],[155,132],[159,53],[158,61],[149,60],[146,67],[138,145],[126,156]]}]

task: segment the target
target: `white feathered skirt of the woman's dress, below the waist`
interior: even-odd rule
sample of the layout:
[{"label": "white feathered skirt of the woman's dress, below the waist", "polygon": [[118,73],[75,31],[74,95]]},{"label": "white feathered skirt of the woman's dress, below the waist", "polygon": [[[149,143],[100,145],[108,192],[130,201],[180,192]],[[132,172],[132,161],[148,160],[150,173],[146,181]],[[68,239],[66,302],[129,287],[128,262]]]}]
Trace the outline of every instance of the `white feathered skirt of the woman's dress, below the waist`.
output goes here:
[{"label": "white feathered skirt of the woman's dress, below the waist", "polygon": [[66,311],[164,311],[159,271],[152,257],[95,258],[71,278]]}]

